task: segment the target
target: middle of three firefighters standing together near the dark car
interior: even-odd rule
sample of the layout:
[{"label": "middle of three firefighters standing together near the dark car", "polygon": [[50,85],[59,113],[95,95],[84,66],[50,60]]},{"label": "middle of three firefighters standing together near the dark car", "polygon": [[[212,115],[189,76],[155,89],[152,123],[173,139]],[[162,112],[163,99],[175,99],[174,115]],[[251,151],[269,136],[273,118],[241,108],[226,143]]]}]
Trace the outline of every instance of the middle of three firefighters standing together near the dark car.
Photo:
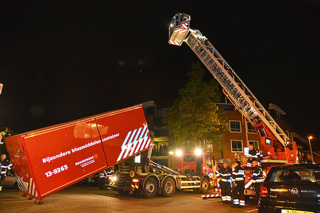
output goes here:
[{"label": "middle of three firefighters standing together near the dark car", "polygon": [[[239,161],[234,161],[234,171],[232,172],[232,208],[244,208],[244,179],[245,172]],[[239,193],[239,195],[237,195]]]}]

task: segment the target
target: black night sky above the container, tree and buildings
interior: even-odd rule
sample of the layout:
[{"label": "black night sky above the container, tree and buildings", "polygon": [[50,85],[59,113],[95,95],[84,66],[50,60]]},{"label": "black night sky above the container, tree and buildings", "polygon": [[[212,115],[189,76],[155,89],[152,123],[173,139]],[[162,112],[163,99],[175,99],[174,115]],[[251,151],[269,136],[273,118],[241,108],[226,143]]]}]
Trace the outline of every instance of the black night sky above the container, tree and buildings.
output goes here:
[{"label": "black night sky above the container, tree and buildings", "polygon": [[2,0],[0,126],[21,133],[148,100],[170,107],[198,61],[168,44],[176,12],[265,108],[278,105],[320,144],[316,0]]}]

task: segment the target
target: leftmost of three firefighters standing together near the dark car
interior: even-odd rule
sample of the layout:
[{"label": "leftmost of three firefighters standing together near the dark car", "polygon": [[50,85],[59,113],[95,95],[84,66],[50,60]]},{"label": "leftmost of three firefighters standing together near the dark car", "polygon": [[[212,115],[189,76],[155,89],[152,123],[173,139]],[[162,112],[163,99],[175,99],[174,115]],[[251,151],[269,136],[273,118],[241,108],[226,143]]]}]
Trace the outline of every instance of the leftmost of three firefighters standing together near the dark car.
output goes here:
[{"label": "leftmost of three firefighters standing together near the dark car", "polygon": [[215,171],[216,178],[219,179],[221,199],[223,204],[231,204],[231,173],[232,170],[230,167],[228,167],[226,162],[223,163],[223,167]]}]

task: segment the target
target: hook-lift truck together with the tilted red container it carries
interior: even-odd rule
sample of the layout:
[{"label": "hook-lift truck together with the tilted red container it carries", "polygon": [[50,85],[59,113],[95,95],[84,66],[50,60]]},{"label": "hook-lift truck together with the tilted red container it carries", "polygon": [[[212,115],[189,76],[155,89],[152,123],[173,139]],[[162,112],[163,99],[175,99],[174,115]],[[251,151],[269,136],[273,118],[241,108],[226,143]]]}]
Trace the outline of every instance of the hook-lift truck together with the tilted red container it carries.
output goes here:
[{"label": "hook-lift truck together with the tilted red container it carries", "polygon": [[147,169],[144,173],[118,172],[107,186],[119,194],[133,191],[145,198],[155,194],[168,197],[183,189],[206,193],[216,168],[204,152],[194,158],[198,167],[185,167],[193,162],[184,165],[197,175],[181,175],[150,162],[153,139],[142,105],[6,137],[5,144],[20,194],[38,204],[44,197],[144,151],[146,166],[150,163],[165,174],[148,173]]}]

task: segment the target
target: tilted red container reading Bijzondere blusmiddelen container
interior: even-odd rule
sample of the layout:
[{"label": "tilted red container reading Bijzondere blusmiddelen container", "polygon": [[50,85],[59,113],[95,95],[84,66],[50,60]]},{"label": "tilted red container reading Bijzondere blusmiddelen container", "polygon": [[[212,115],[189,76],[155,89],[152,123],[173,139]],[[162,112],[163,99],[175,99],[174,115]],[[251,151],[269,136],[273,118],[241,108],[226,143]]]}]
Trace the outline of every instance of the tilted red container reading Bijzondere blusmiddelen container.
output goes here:
[{"label": "tilted red container reading Bijzondere blusmiddelen container", "polygon": [[5,138],[18,187],[42,198],[152,146],[141,105]]}]

